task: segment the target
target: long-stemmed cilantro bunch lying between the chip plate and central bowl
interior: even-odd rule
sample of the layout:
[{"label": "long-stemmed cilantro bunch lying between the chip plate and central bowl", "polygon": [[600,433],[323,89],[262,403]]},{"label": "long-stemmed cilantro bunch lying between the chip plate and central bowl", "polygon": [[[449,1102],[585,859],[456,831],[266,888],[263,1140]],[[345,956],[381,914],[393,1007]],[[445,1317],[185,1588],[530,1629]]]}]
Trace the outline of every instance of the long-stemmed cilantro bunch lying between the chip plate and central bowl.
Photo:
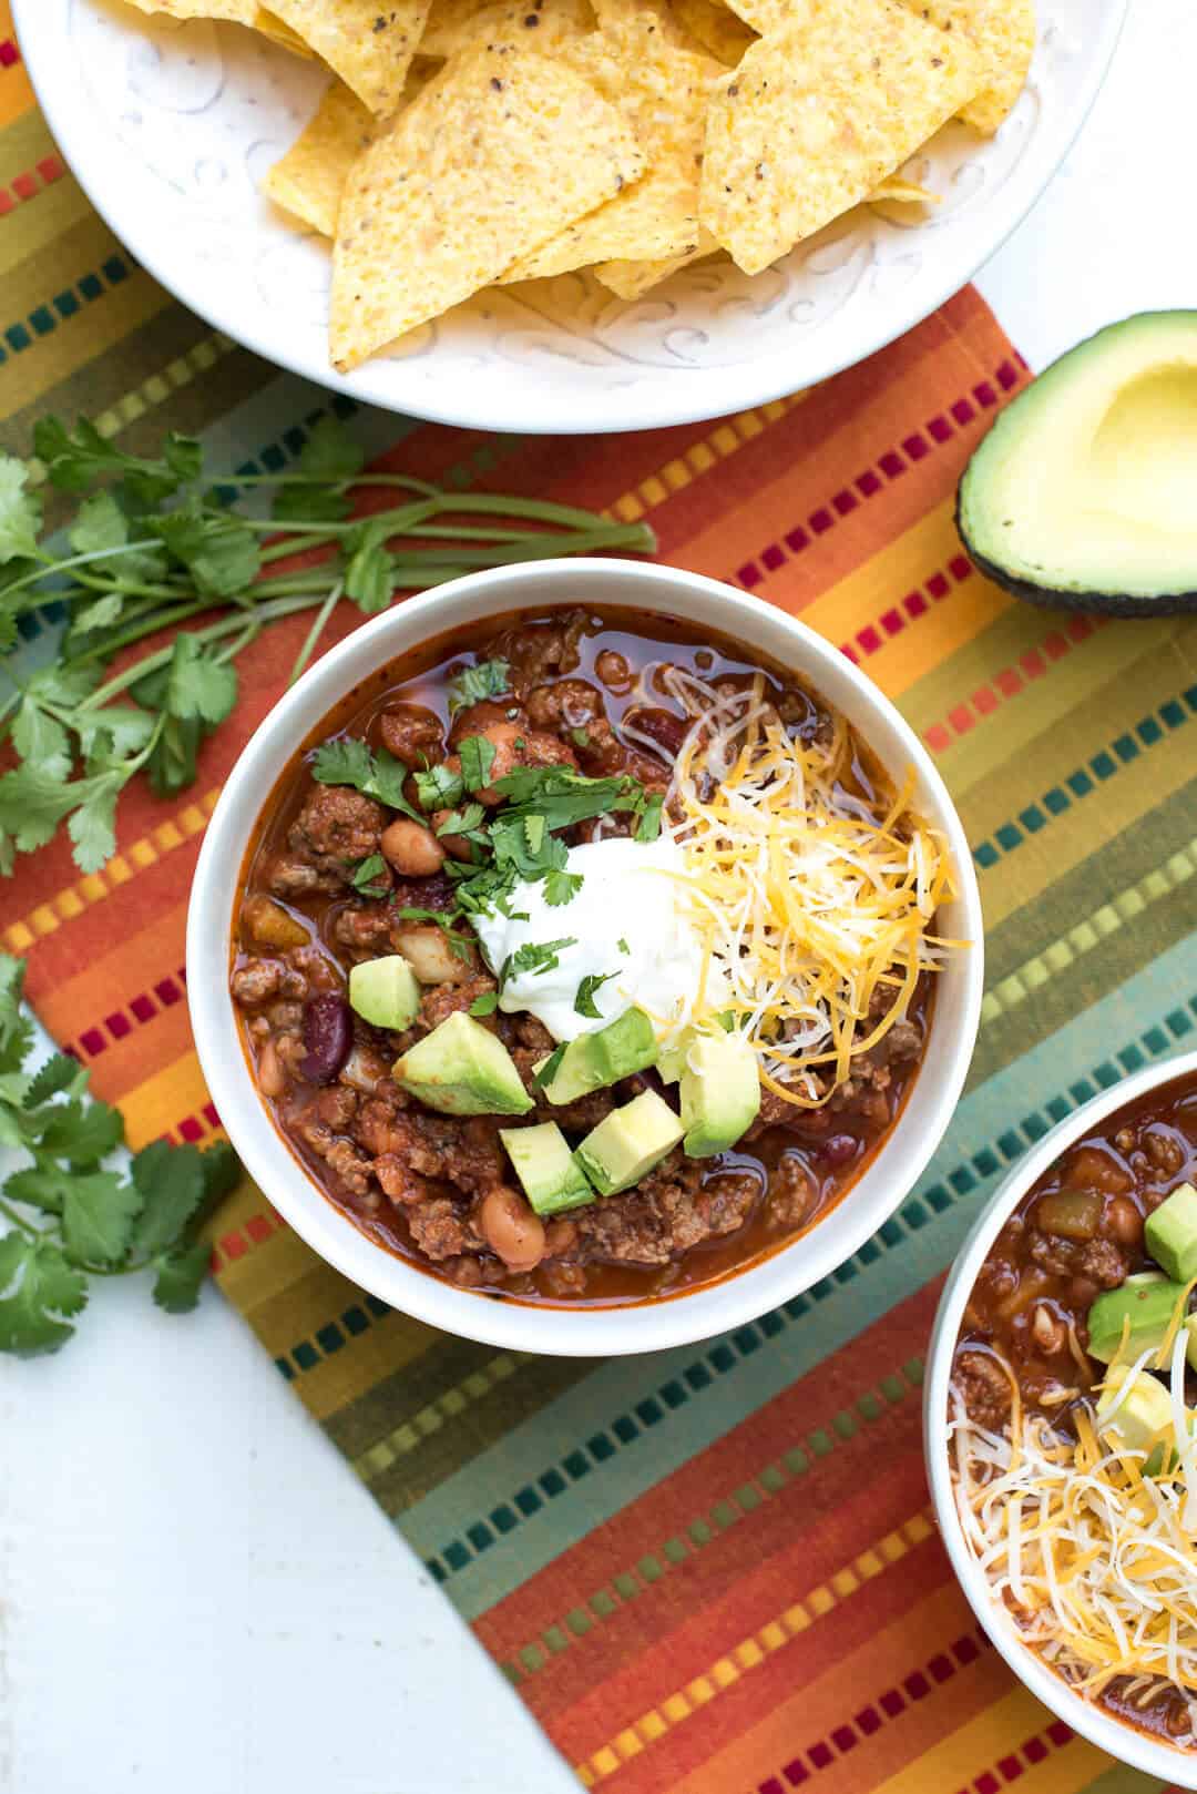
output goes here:
[{"label": "long-stemmed cilantro bunch lying between the chip plate and central bowl", "polygon": [[[86,418],[68,429],[50,416],[34,450],[36,461],[0,454],[0,741],[11,745],[0,875],[61,829],[81,870],[95,872],[115,852],[117,807],[133,779],[160,797],[190,786],[205,739],[237,703],[237,658],[264,630],[314,612],[296,678],[343,597],[370,615],[397,592],[477,567],[655,547],[642,524],[574,506],[364,472],[361,448],[332,418],[287,472],[239,474],[235,486],[214,479],[199,443],[174,432],[156,456],[138,456]],[[233,508],[257,488],[269,493],[269,515]],[[27,673],[18,626],[48,605],[66,619],[59,651],[54,666]],[[506,680],[506,662],[483,662],[456,691],[472,703],[501,694]]]}]

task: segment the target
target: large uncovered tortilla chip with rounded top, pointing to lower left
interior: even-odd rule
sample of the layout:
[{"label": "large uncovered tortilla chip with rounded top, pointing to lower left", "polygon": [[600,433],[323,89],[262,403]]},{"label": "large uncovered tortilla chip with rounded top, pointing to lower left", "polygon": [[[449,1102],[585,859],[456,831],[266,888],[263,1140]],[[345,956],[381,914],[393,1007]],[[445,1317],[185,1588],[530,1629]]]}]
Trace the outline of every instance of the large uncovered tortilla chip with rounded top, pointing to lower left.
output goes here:
[{"label": "large uncovered tortilla chip with rounded top, pointing to lower left", "polygon": [[454,57],[350,174],[334,366],[488,287],[642,170],[623,115],[560,59],[506,45]]}]

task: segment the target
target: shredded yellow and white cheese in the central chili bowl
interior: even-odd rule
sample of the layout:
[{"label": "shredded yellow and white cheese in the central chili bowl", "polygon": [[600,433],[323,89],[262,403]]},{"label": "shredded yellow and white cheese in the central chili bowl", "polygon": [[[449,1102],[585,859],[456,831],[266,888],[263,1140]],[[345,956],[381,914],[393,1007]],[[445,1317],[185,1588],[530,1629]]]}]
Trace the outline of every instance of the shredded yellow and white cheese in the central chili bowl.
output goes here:
[{"label": "shredded yellow and white cheese in the central chili bowl", "polygon": [[913,773],[865,795],[843,718],[829,743],[800,741],[759,675],[730,694],[673,666],[644,678],[693,718],[669,809],[705,971],[678,1026],[730,1010],[761,1084],[818,1107],[953,945],[930,933],[946,843],[910,807]]}]

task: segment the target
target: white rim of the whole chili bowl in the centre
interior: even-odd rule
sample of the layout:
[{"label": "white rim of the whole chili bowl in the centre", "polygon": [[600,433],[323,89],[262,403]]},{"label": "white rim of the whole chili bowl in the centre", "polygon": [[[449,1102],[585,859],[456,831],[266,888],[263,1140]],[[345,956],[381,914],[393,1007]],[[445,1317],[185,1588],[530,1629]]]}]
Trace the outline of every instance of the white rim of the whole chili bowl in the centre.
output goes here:
[{"label": "white rim of the whole chili bowl in the centre", "polygon": [[[549,594],[555,588],[560,592],[562,587],[564,596],[555,601]],[[899,1134],[904,1116],[910,1114],[908,1103],[894,1136],[849,1195],[800,1241],[781,1247],[763,1265],[747,1267],[727,1279],[669,1301],[571,1310],[569,1304],[504,1302],[470,1290],[456,1290],[434,1274],[416,1270],[406,1259],[386,1252],[323,1195],[282,1141],[249,1076],[228,992],[228,944],[235,901],[235,877],[230,877],[230,868],[237,872],[240,868],[244,847],[262,809],[264,788],[269,793],[275,784],[273,764],[285,764],[298,741],[318,727],[319,718],[327,716],[354,684],[382,660],[459,626],[459,619],[449,615],[450,606],[465,606],[470,621],[481,621],[520,608],[546,610],[555,603],[585,606],[587,601],[641,608],[650,615],[696,614],[700,626],[709,623],[732,640],[739,637],[750,642],[757,653],[772,653],[757,646],[759,637],[768,637],[770,631],[793,642],[788,664],[815,685],[824,682],[826,689],[829,682],[833,689],[840,687],[840,694],[831,700],[838,707],[843,707],[842,696],[849,692],[856,718],[865,712],[874,725],[881,725],[913,764],[921,804],[924,809],[930,807],[957,863],[960,886],[955,899],[957,915],[964,919],[973,944],[953,962],[951,1014],[940,997],[935,1010],[940,1017],[940,1039],[937,1042],[933,1017],[930,1049],[912,1085],[912,1091],[930,1093],[924,1094],[926,1114],[917,1136]],[[718,614],[718,624],[711,621],[711,612]],[[773,653],[773,658],[779,657]],[[301,721],[293,721],[296,716]],[[863,732],[869,739],[869,723],[863,725]],[[878,748],[876,739],[874,748]],[[892,764],[897,752],[887,748],[887,757]],[[578,558],[468,574],[431,594],[411,597],[354,630],[284,692],[242,748],[208,822],[188,902],[187,965],[196,1051],[212,1102],[249,1175],[269,1193],[267,1200],[312,1250],[389,1306],[458,1337],[562,1356],[596,1353],[617,1356],[695,1344],[756,1320],[781,1301],[829,1276],[894,1213],[924,1171],[964,1087],[980,1021],[983,931],[976,872],[948,789],[910,725],[860,667],[786,612],[714,579],[648,562]],[[948,1028],[949,1033],[942,1032]],[[937,1046],[940,1057],[933,1060]],[[903,1141],[904,1170],[901,1177],[885,1182],[876,1179],[874,1171],[896,1137]],[[280,1154],[285,1157],[285,1168]],[[874,1182],[869,1188],[869,1200],[858,1202],[854,1211],[852,1197],[870,1177]],[[838,1243],[820,1247],[820,1238]],[[800,1247],[797,1254],[795,1247]],[[779,1272],[782,1265],[784,1276]],[[763,1293],[759,1285],[765,1285]]]}]

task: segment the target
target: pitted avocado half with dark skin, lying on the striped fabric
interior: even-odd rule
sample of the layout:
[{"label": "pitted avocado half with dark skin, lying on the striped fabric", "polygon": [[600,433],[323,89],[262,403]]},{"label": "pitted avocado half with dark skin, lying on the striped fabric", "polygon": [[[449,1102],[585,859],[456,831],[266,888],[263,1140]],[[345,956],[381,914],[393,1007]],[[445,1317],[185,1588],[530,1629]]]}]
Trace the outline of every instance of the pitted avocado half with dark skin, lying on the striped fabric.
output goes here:
[{"label": "pitted avocado half with dark skin, lying on the striped fabric", "polygon": [[1141,312],[1061,355],[964,470],[960,540],[1032,605],[1197,610],[1197,312]]}]

